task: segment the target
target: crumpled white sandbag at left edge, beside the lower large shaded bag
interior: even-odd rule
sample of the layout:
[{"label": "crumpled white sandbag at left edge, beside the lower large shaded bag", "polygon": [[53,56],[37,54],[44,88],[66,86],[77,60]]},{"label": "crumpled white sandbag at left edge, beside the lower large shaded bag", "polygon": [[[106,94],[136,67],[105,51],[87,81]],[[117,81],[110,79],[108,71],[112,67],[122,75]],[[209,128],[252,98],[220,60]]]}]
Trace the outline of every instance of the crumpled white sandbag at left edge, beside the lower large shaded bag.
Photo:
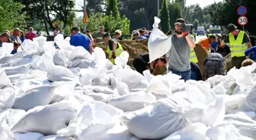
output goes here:
[{"label": "crumpled white sandbag at left edge, beside the lower large shaded bag", "polygon": [[24,110],[8,109],[0,114],[0,120],[8,127],[13,127],[18,121],[26,115]]}]

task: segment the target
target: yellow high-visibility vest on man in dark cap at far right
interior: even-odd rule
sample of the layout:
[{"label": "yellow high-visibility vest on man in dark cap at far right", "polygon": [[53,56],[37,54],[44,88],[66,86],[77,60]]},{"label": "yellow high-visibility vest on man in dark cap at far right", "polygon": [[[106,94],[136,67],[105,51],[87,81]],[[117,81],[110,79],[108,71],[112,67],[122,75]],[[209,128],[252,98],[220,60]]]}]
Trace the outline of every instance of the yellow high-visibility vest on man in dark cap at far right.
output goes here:
[{"label": "yellow high-visibility vest on man in dark cap at far right", "polygon": [[248,48],[247,44],[242,44],[244,39],[245,32],[240,31],[238,37],[235,39],[235,36],[232,33],[229,33],[229,45],[231,51],[231,57],[244,57],[245,51]]}]

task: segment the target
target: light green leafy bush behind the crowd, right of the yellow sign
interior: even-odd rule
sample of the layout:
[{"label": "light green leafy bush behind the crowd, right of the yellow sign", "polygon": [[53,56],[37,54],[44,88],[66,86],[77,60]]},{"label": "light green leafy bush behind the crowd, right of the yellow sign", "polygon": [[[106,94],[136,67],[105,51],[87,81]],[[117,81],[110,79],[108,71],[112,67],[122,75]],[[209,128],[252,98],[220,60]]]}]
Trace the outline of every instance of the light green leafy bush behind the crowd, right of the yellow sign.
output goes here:
[{"label": "light green leafy bush behind the crowd, right of the yellow sign", "polygon": [[105,32],[114,33],[115,30],[122,30],[123,34],[130,33],[130,20],[128,20],[125,16],[117,17],[112,16],[104,16],[101,13],[97,13],[91,15],[89,19],[89,23],[87,29],[91,31],[91,33],[97,33],[99,31],[99,26],[105,27]]}]

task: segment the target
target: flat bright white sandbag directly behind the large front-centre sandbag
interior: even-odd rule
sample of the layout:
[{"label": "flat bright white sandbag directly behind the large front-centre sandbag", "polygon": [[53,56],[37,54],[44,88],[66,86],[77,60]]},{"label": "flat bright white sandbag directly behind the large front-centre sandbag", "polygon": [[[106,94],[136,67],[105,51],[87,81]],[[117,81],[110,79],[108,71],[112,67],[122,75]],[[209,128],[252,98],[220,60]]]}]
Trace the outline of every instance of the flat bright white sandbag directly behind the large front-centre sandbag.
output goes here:
[{"label": "flat bright white sandbag directly behind the large front-centre sandbag", "polygon": [[129,112],[142,109],[155,101],[155,96],[150,93],[136,92],[111,98],[108,104],[111,104],[124,112]]}]

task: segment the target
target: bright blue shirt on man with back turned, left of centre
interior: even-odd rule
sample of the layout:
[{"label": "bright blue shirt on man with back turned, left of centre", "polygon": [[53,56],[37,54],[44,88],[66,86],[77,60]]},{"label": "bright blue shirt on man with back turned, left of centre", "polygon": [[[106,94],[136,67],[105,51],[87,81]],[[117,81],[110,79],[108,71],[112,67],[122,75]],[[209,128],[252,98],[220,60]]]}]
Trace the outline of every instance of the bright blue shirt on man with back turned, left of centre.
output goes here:
[{"label": "bright blue shirt on man with back turned, left of centre", "polygon": [[70,39],[70,45],[74,45],[75,47],[82,46],[87,51],[90,51],[90,48],[89,48],[90,43],[91,43],[90,38],[82,33],[77,33],[74,36],[72,36]]}]

